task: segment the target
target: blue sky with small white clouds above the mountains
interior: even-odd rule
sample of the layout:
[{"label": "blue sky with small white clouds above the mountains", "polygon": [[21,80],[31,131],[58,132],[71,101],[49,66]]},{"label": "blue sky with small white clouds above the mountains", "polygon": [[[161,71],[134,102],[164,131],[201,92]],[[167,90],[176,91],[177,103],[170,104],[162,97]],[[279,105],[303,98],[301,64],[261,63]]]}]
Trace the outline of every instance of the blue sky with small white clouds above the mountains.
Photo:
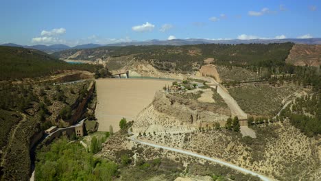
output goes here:
[{"label": "blue sky with small white clouds above the mountains", "polygon": [[0,43],[321,37],[321,1],[2,1]]}]

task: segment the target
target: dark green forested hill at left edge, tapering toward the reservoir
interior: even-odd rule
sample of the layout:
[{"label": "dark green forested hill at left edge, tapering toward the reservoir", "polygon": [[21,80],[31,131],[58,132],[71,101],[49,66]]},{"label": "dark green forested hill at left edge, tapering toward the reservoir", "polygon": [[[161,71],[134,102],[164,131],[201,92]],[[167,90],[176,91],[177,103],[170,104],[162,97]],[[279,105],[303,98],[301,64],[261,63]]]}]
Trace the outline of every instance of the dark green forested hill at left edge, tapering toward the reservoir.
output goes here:
[{"label": "dark green forested hill at left edge, tapering toward the reservoir", "polygon": [[40,77],[67,69],[95,71],[93,65],[68,64],[43,51],[0,46],[0,80]]}]

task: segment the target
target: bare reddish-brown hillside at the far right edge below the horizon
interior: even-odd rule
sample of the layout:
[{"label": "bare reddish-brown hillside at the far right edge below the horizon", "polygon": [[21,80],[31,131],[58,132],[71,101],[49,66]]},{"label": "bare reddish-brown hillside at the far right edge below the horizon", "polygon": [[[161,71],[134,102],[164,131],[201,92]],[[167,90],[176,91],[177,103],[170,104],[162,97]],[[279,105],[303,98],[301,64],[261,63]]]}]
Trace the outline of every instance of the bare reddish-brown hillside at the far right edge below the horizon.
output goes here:
[{"label": "bare reddish-brown hillside at the far right edge below the horizon", "polygon": [[299,66],[319,67],[321,65],[321,45],[294,45],[286,62]]}]

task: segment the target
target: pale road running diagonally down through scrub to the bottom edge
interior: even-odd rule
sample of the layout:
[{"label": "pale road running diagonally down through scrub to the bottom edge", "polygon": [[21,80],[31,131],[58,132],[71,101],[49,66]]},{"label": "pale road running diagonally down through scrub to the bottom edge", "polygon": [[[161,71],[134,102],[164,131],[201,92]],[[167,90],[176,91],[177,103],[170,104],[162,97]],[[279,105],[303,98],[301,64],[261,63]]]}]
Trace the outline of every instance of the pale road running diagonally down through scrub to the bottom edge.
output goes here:
[{"label": "pale road running diagonally down through scrub to the bottom edge", "polygon": [[250,170],[248,170],[248,169],[243,169],[242,167],[238,167],[237,165],[233,165],[233,164],[231,164],[231,163],[229,163],[229,162],[224,162],[224,161],[222,161],[222,160],[218,160],[218,159],[215,159],[215,158],[210,158],[210,157],[207,157],[207,156],[202,156],[202,155],[199,155],[199,154],[195,154],[195,153],[193,153],[193,152],[187,152],[187,151],[182,150],[182,149],[176,149],[176,148],[172,148],[172,147],[165,147],[165,146],[162,146],[162,145],[155,145],[155,144],[153,144],[153,143],[147,143],[147,142],[140,141],[140,140],[136,139],[134,135],[130,136],[129,139],[130,139],[131,141],[136,142],[136,143],[141,143],[141,144],[143,144],[143,145],[148,145],[148,146],[150,146],[150,147],[167,149],[167,150],[172,151],[172,152],[177,152],[177,153],[180,153],[180,154],[186,154],[186,155],[189,155],[189,156],[195,156],[195,157],[197,157],[197,158],[202,158],[202,159],[205,159],[205,160],[209,160],[209,161],[211,161],[211,162],[217,162],[217,163],[219,163],[219,164],[221,164],[221,165],[224,165],[224,166],[226,166],[226,167],[230,167],[231,169],[235,169],[235,170],[241,171],[241,172],[243,172],[243,173],[249,173],[249,174],[251,174],[252,176],[258,176],[258,177],[259,177],[261,180],[263,180],[263,181],[270,181],[270,180],[272,180],[272,179],[270,179],[270,178],[268,178],[268,177],[266,177],[266,176],[263,176],[263,175],[261,175],[261,174],[259,174],[259,173],[255,173],[254,171],[250,171]]}]

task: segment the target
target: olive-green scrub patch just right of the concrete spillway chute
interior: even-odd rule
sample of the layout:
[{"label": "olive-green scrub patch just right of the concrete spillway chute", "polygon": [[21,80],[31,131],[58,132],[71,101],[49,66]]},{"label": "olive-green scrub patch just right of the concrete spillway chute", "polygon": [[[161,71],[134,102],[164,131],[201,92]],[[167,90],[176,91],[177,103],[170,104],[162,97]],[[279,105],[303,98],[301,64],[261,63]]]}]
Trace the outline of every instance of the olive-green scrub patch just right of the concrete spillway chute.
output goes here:
[{"label": "olive-green scrub patch just right of the concrete spillway chute", "polygon": [[302,87],[294,84],[272,86],[269,84],[248,84],[228,88],[230,95],[242,110],[257,116],[274,116],[281,110],[283,99],[299,93]]}]

